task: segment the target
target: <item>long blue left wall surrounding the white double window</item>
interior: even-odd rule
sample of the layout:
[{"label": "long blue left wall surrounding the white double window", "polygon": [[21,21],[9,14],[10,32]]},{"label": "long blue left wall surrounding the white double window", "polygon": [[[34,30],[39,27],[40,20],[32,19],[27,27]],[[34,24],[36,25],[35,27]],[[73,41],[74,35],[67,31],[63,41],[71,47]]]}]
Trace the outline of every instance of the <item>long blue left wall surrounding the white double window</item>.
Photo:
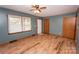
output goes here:
[{"label": "long blue left wall surrounding the white double window", "polygon": [[[7,25],[8,14],[19,15],[19,16],[30,16],[32,19],[32,31],[8,35],[8,25]],[[32,34],[36,34],[36,17],[35,16],[22,13],[22,12],[9,10],[9,9],[0,8],[0,44],[15,40],[15,39],[20,39]]]}]

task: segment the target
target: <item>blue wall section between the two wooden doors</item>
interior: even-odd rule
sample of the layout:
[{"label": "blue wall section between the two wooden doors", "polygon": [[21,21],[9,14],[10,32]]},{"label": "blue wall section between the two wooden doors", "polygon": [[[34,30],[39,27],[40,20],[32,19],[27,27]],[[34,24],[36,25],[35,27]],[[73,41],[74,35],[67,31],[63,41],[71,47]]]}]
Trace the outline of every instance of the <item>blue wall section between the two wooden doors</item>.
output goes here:
[{"label": "blue wall section between the two wooden doors", "polygon": [[50,33],[61,35],[62,34],[62,16],[51,16],[50,17]]}]

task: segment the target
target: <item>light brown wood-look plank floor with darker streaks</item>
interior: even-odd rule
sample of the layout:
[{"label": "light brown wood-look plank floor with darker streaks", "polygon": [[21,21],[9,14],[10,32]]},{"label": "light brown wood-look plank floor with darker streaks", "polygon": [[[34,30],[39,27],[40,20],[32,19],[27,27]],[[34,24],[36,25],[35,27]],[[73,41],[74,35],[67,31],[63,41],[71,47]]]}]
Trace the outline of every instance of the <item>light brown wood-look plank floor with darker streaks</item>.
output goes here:
[{"label": "light brown wood-look plank floor with darker streaks", "polygon": [[0,54],[75,54],[72,39],[53,35],[36,35],[0,45]]}]

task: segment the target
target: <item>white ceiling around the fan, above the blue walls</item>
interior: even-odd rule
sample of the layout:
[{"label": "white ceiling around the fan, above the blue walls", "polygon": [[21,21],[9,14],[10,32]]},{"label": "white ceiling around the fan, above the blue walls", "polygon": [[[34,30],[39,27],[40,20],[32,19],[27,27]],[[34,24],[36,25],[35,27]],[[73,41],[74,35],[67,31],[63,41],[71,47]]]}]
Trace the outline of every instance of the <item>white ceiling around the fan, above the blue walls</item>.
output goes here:
[{"label": "white ceiling around the fan, above the blue walls", "polygon": [[[47,7],[47,9],[42,10],[42,13],[38,15],[41,17],[76,12],[76,9],[79,7],[79,5],[40,5],[40,6]],[[35,15],[32,11],[30,11],[31,5],[0,5],[0,7]]]}]

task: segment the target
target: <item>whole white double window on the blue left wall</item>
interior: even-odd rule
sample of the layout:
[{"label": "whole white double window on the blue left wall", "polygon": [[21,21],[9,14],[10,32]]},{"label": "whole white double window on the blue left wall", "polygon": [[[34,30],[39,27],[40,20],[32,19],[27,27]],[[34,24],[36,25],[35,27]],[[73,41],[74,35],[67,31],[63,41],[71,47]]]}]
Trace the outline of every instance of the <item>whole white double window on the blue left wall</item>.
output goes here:
[{"label": "whole white double window on the blue left wall", "polygon": [[31,30],[31,18],[16,15],[8,15],[9,33],[17,33]]}]

